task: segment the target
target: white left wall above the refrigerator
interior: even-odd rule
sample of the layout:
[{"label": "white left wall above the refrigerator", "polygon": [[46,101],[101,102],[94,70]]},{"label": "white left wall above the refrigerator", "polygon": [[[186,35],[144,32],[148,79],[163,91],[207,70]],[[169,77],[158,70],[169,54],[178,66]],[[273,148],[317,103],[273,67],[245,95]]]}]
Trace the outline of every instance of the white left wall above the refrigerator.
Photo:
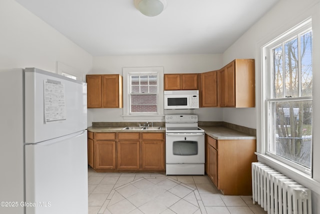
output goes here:
[{"label": "white left wall above the refrigerator", "polygon": [[92,56],[13,0],[0,1],[0,69],[36,67],[56,72],[56,65],[84,76]]}]

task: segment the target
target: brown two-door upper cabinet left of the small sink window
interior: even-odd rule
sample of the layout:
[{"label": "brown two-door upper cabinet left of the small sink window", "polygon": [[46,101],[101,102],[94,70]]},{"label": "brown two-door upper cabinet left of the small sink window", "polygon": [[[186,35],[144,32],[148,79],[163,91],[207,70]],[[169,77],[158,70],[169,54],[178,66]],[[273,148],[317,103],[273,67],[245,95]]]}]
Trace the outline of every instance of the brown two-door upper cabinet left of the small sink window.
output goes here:
[{"label": "brown two-door upper cabinet left of the small sink window", "polygon": [[122,108],[122,76],[86,75],[87,108]]}]

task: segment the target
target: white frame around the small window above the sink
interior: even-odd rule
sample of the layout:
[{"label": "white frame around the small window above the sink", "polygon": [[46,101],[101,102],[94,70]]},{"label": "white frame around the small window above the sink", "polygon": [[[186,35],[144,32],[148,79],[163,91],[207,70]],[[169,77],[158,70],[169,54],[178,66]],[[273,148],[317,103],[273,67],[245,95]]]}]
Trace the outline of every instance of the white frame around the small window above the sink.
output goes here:
[{"label": "white frame around the small window above the sink", "polygon": [[[157,112],[130,112],[130,76],[157,75]],[[123,76],[123,119],[163,119],[163,67],[124,67]]]}]

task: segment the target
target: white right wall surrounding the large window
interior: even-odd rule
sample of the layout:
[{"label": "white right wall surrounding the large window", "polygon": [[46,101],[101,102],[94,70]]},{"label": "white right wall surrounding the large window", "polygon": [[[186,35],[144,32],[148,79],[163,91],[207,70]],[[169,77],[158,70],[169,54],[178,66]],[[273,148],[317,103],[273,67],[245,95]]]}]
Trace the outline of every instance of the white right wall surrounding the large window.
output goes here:
[{"label": "white right wall surrounding the large window", "polygon": [[[313,179],[299,176],[298,173],[286,172],[301,184],[312,189],[312,213],[320,213],[320,4],[318,0],[282,0],[272,8],[262,19],[253,25],[223,54],[223,63],[234,58],[255,59],[255,89],[256,108],[252,109],[224,109],[223,119],[226,122],[249,126],[257,130],[257,151],[262,151],[261,143],[261,46],[275,37],[289,30],[303,20],[312,18],[313,34]],[[255,115],[252,116],[252,115]],[[254,119],[248,119],[247,118]],[[290,170],[287,170],[290,171]],[[283,172],[284,173],[284,172]]]}]

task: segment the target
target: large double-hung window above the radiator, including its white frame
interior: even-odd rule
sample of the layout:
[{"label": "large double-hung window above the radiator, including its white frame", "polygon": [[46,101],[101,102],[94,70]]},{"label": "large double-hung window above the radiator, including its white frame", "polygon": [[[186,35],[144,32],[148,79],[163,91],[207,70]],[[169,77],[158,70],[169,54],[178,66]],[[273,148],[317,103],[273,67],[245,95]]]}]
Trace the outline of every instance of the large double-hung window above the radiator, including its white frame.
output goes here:
[{"label": "large double-hung window above the radiator, including its white frame", "polygon": [[262,52],[265,153],[311,175],[311,20],[271,41]]}]

